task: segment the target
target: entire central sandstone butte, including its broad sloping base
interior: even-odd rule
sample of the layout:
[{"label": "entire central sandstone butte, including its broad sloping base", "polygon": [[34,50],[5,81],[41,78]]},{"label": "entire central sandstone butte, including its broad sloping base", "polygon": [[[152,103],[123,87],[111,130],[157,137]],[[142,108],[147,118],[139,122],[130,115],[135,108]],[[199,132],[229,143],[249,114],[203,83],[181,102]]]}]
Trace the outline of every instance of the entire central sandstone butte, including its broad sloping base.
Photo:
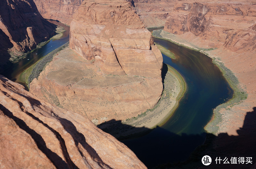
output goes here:
[{"label": "entire central sandstone butte, including its broad sloping base", "polygon": [[58,53],[30,91],[95,124],[152,109],[163,91],[163,58],[150,32],[123,0],[84,1]]}]

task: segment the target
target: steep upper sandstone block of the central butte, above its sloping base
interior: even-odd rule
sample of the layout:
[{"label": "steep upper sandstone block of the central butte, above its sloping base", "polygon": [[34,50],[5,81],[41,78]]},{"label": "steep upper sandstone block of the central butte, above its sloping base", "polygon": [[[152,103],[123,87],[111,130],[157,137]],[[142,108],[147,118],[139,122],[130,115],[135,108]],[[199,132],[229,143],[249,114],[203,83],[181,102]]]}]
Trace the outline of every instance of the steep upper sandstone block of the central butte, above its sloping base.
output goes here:
[{"label": "steep upper sandstone block of the central butte, above its sloping base", "polygon": [[104,74],[161,78],[162,55],[127,2],[84,1],[73,18],[70,48]]}]

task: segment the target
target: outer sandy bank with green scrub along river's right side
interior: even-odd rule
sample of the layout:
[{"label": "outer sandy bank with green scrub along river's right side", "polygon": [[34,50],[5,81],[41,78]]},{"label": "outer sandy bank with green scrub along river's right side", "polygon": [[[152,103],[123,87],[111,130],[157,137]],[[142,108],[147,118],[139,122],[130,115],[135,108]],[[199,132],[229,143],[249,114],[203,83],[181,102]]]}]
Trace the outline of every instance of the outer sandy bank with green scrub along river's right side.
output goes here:
[{"label": "outer sandy bank with green scrub along river's right side", "polygon": [[255,59],[248,57],[253,53],[232,52],[223,49],[221,44],[219,48],[212,48],[211,41],[200,39],[189,32],[174,35],[157,30],[154,31],[153,36],[200,51],[213,59],[213,63],[220,68],[223,76],[233,88],[234,97],[214,109],[212,120],[205,126],[205,130],[215,135],[222,132],[238,135],[236,131],[243,126],[246,113],[252,110],[256,101],[255,85],[252,84],[255,81],[253,78],[255,66],[252,64]]}]

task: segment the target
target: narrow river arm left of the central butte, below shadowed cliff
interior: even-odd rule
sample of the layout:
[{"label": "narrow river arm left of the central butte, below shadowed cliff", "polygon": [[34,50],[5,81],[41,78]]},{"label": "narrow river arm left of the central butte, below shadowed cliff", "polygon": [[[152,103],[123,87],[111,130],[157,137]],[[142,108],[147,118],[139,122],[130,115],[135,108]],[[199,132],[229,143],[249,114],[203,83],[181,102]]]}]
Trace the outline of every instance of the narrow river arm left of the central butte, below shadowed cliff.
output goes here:
[{"label": "narrow river arm left of the central butte, below shadowed cliff", "polygon": [[8,69],[4,70],[4,72],[1,73],[2,75],[4,75],[12,81],[25,85],[20,81],[20,74],[28,67],[36,63],[37,60],[39,60],[48,53],[52,52],[54,49],[60,47],[61,45],[64,45],[69,41],[69,27],[67,25],[64,25],[57,21],[48,21],[55,25],[64,27],[66,32],[63,33],[63,36],[60,39],[52,39],[41,48],[37,48],[33,52],[28,53],[26,58],[20,60],[17,63],[12,64],[12,66],[10,66]]}]

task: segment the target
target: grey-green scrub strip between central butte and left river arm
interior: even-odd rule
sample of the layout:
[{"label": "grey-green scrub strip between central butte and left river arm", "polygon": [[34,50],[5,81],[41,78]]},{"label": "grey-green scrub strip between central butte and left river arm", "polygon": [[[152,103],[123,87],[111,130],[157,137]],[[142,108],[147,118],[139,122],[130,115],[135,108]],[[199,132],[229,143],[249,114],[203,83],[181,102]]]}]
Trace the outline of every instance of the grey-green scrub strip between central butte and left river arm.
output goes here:
[{"label": "grey-green scrub strip between central butte and left river arm", "polygon": [[58,47],[57,49],[54,49],[52,52],[48,53],[46,56],[44,56],[40,61],[36,63],[36,66],[33,68],[31,71],[31,74],[28,77],[28,87],[31,81],[39,76],[39,74],[44,70],[44,67],[46,66],[47,63],[52,61],[53,56],[66,48],[69,45],[69,42],[65,43],[64,45]]}]

